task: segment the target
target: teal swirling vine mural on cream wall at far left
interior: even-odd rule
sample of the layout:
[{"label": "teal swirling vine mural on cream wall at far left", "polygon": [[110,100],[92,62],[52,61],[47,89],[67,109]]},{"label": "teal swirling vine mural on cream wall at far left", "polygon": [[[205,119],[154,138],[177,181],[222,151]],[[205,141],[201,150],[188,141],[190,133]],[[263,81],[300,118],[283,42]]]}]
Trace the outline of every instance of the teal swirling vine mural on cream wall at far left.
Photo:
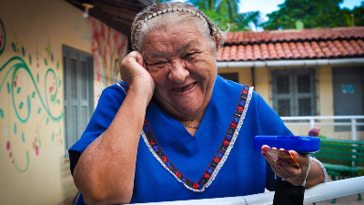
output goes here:
[{"label": "teal swirling vine mural on cream wall at far left", "polygon": [[63,146],[62,69],[50,43],[29,50],[23,43],[0,19],[0,149],[19,175],[47,144]]}]

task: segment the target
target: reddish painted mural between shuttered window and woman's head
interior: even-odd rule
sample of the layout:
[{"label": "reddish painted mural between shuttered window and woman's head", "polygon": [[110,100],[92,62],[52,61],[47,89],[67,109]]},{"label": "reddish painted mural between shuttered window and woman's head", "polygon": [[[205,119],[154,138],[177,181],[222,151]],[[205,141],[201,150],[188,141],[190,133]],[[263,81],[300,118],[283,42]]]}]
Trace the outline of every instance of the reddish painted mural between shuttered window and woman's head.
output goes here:
[{"label": "reddish painted mural between shuttered window and woman's head", "polygon": [[119,65],[126,56],[127,38],[93,17],[92,27],[95,67],[95,105],[103,89],[121,81]]}]

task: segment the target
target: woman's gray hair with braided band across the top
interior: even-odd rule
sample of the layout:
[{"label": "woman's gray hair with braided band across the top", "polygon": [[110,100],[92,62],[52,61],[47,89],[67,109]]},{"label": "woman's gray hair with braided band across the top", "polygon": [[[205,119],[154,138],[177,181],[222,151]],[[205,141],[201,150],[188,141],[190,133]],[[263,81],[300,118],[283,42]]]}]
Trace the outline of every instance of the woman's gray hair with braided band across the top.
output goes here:
[{"label": "woman's gray hair with braided band across the top", "polygon": [[147,33],[154,29],[166,27],[169,23],[194,23],[202,36],[205,36],[214,51],[223,46],[226,32],[221,31],[211,19],[193,5],[180,2],[150,5],[136,15],[131,26],[131,44],[133,50],[141,52],[143,39]]}]

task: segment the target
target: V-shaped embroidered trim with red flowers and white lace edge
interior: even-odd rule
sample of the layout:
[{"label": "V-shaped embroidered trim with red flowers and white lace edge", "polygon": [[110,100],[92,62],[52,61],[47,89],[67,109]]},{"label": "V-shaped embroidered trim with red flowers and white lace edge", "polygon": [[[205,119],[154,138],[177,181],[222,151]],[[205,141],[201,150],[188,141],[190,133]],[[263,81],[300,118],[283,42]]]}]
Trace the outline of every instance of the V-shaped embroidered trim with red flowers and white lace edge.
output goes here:
[{"label": "V-shaped embroidered trim with red flowers and white lace edge", "polygon": [[[117,84],[119,87],[122,87],[127,93],[128,86],[125,82],[121,82]],[[238,132],[243,125],[243,120],[248,111],[248,104],[250,98],[252,96],[253,87],[243,86],[241,91],[239,100],[238,100],[238,108],[236,108],[234,117],[232,118],[229,127],[227,128],[227,133],[225,138],[223,139],[220,147],[217,149],[217,153],[214,158],[211,160],[205,173],[202,175],[201,179],[197,182],[191,179],[188,179],[183,173],[181,173],[176,166],[172,164],[172,162],[167,158],[167,155],[160,148],[156,137],[153,134],[152,129],[147,121],[147,118],[144,121],[142,137],[146,142],[147,148],[154,155],[154,157],[159,161],[159,163],[167,169],[179,182],[183,183],[188,190],[194,190],[197,192],[204,191],[212,181],[217,177],[217,173],[219,169],[222,168],[225,161],[227,160],[228,154],[230,150],[234,147],[234,143],[238,138]]]}]

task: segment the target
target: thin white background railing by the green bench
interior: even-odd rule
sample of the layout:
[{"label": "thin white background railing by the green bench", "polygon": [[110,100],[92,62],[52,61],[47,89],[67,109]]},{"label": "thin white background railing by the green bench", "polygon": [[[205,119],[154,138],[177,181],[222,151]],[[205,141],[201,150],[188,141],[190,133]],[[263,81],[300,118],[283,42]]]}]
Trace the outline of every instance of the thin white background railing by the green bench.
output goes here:
[{"label": "thin white background railing by the green bench", "polygon": [[[364,126],[364,122],[358,122],[364,116],[304,116],[304,117],[281,117],[286,126],[350,126],[351,140],[357,140],[357,130],[359,126]],[[321,119],[347,119],[349,122],[319,122]],[[305,121],[306,120],[306,121]]]}]

